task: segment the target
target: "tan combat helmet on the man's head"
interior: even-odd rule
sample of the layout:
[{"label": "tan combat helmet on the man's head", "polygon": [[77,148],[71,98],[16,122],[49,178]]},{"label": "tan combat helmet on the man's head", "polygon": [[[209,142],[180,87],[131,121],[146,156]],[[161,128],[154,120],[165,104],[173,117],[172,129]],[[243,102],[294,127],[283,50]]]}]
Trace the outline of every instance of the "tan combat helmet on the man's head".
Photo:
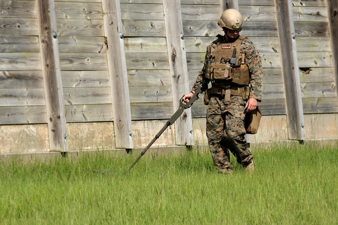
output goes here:
[{"label": "tan combat helmet on the man's head", "polygon": [[225,27],[231,30],[240,30],[243,26],[242,15],[236,9],[227,9],[222,13],[217,24],[221,28]]}]

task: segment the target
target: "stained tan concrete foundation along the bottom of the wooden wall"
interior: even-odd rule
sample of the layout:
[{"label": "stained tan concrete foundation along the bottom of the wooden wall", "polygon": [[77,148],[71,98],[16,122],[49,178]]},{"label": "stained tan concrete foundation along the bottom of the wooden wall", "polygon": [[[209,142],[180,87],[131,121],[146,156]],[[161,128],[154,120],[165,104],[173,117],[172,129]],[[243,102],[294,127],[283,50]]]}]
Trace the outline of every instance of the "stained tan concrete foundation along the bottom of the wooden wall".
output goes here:
[{"label": "stained tan concrete foundation along the bottom of the wooden wall", "polygon": [[[304,115],[305,142],[333,143],[338,140],[338,114]],[[133,152],[141,152],[165,125],[166,120],[133,121]],[[193,119],[193,134],[196,148],[208,149],[206,118]],[[82,151],[111,151],[126,154],[125,149],[115,149],[113,122],[68,123],[69,155],[79,155]],[[263,116],[259,131],[251,135],[250,146],[288,142],[287,118],[285,115]],[[49,140],[47,124],[2,125],[0,126],[0,154],[48,155]],[[186,151],[185,146],[175,145],[174,125],[168,127],[148,150],[148,154],[177,154]],[[120,154],[121,153],[121,154]],[[57,153],[59,154],[59,153]],[[74,155],[73,154],[73,155]]]}]

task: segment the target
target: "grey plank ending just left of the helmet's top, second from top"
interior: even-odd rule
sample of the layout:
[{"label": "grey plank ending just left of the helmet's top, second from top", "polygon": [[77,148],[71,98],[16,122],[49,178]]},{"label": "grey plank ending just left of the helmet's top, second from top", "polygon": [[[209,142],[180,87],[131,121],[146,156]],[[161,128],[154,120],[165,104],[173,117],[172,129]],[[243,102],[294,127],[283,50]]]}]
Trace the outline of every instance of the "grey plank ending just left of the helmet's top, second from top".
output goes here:
[{"label": "grey plank ending just left of the helmet's top, second from top", "polygon": [[217,5],[181,5],[182,20],[218,21],[221,17],[221,6]]}]

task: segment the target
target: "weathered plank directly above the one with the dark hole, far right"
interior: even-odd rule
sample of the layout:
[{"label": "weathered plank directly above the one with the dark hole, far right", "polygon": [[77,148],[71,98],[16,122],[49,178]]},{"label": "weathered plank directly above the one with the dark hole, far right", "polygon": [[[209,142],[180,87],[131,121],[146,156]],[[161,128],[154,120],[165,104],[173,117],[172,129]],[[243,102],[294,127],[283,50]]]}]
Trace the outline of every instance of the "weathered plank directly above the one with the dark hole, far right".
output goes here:
[{"label": "weathered plank directly above the one with the dark hole, far right", "polygon": [[331,52],[300,52],[298,66],[302,67],[333,67]]}]

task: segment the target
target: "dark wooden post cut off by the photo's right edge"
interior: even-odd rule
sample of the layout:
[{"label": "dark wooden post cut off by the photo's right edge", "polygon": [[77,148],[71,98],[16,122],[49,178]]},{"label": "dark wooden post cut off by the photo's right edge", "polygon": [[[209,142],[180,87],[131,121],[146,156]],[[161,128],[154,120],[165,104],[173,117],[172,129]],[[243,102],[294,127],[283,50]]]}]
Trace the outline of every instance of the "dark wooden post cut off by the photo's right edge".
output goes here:
[{"label": "dark wooden post cut off by the photo's right edge", "polygon": [[333,72],[336,80],[336,91],[338,97],[338,2],[337,0],[327,0],[328,4],[328,17],[329,17],[329,30],[330,40],[332,49],[332,60],[333,60]]}]

